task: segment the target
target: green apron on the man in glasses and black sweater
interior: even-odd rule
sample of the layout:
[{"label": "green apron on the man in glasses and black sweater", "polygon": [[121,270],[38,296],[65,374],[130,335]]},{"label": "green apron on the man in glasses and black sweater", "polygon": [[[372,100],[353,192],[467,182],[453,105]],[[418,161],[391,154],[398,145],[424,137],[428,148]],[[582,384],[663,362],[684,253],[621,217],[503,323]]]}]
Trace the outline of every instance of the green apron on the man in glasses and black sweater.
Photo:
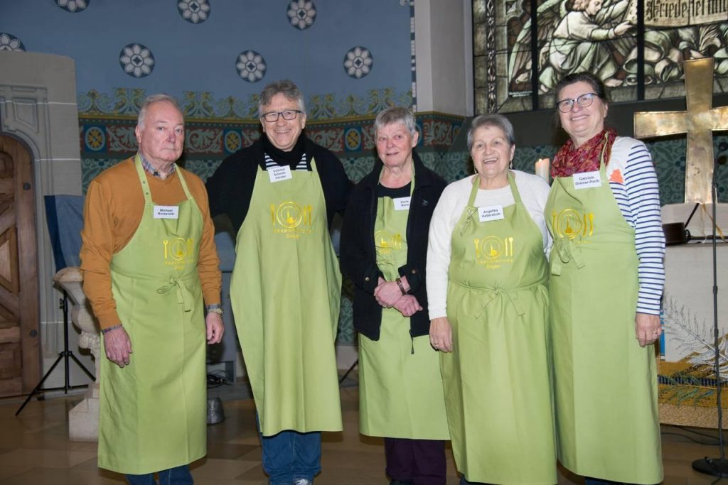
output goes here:
[{"label": "green apron on the man in glasses and black sweater", "polygon": [[334,341],[341,273],[315,161],[272,183],[256,172],[230,294],[261,433],[341,430]]}]

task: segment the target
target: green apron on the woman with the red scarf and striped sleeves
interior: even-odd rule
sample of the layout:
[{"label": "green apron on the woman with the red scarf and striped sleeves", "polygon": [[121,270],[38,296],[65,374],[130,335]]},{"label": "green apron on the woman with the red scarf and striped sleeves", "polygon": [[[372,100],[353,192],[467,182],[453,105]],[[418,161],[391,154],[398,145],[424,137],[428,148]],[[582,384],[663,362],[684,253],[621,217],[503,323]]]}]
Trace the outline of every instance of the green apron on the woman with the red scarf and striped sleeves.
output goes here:
[{"label": "green apron on the woman with the red scarf and striped sleeves", "polygon": [[638,258],[600,164],[601,186],[556,177],[545,207],[558,458],[579,475],[662,481],[654,347],[635,337]]}]

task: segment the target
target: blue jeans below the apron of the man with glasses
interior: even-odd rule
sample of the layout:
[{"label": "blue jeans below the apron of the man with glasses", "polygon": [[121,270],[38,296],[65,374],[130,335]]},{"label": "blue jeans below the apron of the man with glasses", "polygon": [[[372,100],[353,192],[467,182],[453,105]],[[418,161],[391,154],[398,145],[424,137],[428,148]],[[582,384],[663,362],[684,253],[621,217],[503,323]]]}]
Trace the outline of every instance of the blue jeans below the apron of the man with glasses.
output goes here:
[{"label": "blue jeans below the apron of the man with glasses", "polygon": [[290,485],[293,480],[313,480],[321,471],[321,433],[281,431],[262,436],[263,469],[271,485]]}]

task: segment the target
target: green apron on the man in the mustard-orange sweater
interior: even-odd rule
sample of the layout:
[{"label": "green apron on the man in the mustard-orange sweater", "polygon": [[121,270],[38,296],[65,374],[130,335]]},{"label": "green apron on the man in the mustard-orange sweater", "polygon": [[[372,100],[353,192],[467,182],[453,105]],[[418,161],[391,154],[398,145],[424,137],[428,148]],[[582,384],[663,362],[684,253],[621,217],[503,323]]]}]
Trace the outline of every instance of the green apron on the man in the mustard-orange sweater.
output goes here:
[{"label": "green apron on the man in the mustard-orange sweater", "polygon": [[139,227],[111,258],[111,290],[133,353],[120,368],[101,358],[98,466],[152,473],[186,465],[207,452],[205,316],[197,276],[202,215],[189,193],[176,219],[155,219],[144,193]]}]

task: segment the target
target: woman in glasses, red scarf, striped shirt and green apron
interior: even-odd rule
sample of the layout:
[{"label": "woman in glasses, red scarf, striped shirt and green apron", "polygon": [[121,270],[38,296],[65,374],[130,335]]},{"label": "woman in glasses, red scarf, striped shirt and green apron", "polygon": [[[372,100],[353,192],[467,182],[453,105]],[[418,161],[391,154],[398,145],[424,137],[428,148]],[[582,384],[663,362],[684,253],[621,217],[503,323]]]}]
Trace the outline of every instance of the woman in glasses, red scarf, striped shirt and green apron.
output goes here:
[{"label": "woman in glasses, red scarf, striped shirt and green apron", "polygon": [[604,84],[573,73],[556,87],[569,140],[556,154],[545,217],[550,256],[556,438],[587,485],[662,481],[654,342],[665,241],[644,143],[604,127]]}]

